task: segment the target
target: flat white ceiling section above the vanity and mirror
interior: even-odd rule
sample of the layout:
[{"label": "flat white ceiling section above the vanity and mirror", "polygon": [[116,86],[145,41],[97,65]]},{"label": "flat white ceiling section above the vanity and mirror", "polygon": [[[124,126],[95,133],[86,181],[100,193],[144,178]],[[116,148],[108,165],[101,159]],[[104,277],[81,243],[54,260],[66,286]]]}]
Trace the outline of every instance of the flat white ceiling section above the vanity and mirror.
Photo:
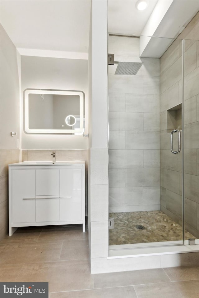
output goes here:
[{"label": "flat white ceiling section above the vanity and mirror", "polygon": [[[90,0],[1,0],[1,24],[8,36],[28,55],[36,49],[78,59],[89,44]],[[41,51],[41,53],[42,53]],[[34,51],[31,51],[31,55]],[[76,54],[77,53],[77,54]],[[82,55],[81,55],[82,53]],[[82,58],[84,59],[84,58]]]}]

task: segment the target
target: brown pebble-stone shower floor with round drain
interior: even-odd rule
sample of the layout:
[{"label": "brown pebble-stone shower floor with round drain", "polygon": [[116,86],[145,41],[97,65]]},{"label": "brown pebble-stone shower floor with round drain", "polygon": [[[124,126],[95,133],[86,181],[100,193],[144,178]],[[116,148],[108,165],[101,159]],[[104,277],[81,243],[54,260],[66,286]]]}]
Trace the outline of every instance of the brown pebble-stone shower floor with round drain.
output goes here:
[{"label": "brown pebble-stone shower floor with round drain", "polygon": [[[182,227],[160,210],[110,213],[114,229],[109,230],[109,244],[134,244],[183,239]],[[144,230],[138,230],[142,225]],[[195,238],[185,230],[185,239]]]}]

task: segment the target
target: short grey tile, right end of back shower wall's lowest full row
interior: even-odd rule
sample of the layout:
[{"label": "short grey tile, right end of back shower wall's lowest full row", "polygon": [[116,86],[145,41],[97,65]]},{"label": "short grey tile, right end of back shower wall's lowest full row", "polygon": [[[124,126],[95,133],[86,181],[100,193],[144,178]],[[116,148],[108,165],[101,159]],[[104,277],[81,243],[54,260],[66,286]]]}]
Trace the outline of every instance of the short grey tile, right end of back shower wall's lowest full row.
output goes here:
[{"label": "short grey tile, right end of back shower wall's lowest full row", "polygon": [[160,187],[143,187],[143,205],[160,205]]}]

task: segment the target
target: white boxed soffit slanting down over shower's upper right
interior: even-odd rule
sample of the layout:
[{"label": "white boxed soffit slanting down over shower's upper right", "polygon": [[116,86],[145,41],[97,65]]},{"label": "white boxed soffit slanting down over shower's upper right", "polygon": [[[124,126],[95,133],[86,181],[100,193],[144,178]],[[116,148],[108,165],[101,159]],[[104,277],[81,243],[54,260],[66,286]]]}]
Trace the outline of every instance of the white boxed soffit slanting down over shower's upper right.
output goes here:
[{"label": "white boxed soffit slanting down over shower's upper right", "polygon": [[140,57],[160,58],[198,11],[199,0],[159,0],[141,32]]}]

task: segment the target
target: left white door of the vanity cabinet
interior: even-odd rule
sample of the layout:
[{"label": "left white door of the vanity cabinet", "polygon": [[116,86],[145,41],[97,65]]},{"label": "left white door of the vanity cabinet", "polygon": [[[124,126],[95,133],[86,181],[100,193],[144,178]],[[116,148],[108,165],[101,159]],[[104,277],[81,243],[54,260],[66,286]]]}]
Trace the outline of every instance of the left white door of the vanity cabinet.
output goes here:
[{"label": "left white door of the vanity cabinet", "polygon": [[12,170],[12,223],[35,222],[35,169]]}]

